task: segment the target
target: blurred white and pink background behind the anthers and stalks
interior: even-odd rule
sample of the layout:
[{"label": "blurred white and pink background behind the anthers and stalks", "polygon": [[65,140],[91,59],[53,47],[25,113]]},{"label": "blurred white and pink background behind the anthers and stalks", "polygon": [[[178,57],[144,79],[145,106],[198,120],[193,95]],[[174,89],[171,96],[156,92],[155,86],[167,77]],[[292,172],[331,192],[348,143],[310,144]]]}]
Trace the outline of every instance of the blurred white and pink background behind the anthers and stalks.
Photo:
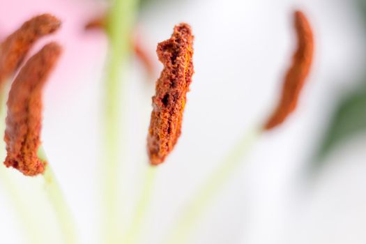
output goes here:
[{"label": "blurred white and pink background behind the anthers and stalks", "polygon": [[[2,37],[36,13],[63,20],[60,33],[47,38],[59,40],[64,55],[45,90],[43,144],[83,243],[96,243],[99,228],[100,102],[107,51],[105,36],[84,33],[83,24],[100,13],[100,4],[0,0]],[[306,174],[335,102],[351,90],[365,64],[366,26],[356,1],[347,0],[148,3],[138,19],[146,49],[155,57],[156,44],[169,38],[174,24],[188,22],[195,34],[195,76],[181,139],[158,172],[144,243],[160,243],[185,201],[229,148],[272,111],[296,47],[296,9],[309,18],[316,40],[314,66],[299,107],[284,125],[261,136],[208,208],[191,243],[366,243],[366,135],[340,145],[311,183]],[[146,80],[135,59],[125,74],[128,143],[121,148],[121,189],[126,192],[121,207],[127,213],[147,164],[146,134],[157,77]],[[1,187],[0,216],[1,243],[26,243]]]}]

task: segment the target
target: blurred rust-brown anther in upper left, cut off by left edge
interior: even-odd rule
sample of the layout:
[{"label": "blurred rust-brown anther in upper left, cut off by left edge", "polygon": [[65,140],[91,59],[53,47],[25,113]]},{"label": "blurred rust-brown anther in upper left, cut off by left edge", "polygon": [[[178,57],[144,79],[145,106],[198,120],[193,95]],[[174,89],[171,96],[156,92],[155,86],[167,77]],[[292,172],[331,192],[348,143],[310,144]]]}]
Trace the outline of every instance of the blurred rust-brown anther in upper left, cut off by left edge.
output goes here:
[{"label": "blurred rust-brown anther in upper left, cut off by left edge", "polygon": [[45,14],[25,22],[0,45],[0,88],[24,60],[24,57],[39,38],[54,33],[61,26],[56,17]]}]

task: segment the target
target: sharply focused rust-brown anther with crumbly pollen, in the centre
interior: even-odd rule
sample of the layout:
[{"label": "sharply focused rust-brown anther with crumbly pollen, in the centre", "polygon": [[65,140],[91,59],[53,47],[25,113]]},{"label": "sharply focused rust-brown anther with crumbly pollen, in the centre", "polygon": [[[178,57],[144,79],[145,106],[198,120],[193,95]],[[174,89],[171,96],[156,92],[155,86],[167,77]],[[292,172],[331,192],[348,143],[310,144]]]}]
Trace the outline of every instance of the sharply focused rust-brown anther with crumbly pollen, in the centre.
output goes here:
[{"label": "sharply focused rust-brown anther with crumbly pollen, in the centre", "polygon": [[164,162],[181,135],[186,94],[194,72],[192,46],[193,36],[188,24],[175,26],[171,38],[158,45],[157,53],[164,69],[156,82],[148,130],[151,165]]}]

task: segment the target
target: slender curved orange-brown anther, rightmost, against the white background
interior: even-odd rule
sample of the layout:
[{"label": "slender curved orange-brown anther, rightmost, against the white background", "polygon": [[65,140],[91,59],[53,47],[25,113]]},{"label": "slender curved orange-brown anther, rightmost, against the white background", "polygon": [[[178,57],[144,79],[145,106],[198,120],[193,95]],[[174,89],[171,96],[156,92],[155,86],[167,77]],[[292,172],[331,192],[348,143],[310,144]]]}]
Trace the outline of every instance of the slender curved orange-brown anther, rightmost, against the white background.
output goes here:
[{"label": "slender curved orange-brown anther, rightmost, against the white background", "polygon": [[296,109],[298,97],[310,73],[314,52],[313,33],[307,18],[300,11],[295,12],[295,29],[298,47],[293,55],[291,68],[284,79],[280,103],[264,126],[265,130],[271,130],[283,123]]}]

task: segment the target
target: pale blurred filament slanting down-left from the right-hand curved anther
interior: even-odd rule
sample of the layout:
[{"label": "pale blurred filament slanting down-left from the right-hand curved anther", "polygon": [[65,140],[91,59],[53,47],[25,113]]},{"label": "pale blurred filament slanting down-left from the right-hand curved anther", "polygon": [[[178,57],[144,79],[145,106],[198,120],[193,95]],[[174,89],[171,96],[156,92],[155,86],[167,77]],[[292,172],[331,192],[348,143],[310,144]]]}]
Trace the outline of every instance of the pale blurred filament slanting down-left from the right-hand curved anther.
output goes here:
[{"label": "pale blurred filament slanting down-left from the right-hand curved anther", "polygon": [[189,243],[188,239],[192,229],[197,225],[199,219],[204,215],[207,207],[215,197],[219,194],[220,189],[235,173],[236,169],[241,165],[244,156],[256,139],[260,135],[260,130],[251,130],[245,135],[229,154],[222,160],[220,165],[211,173],[201,188],[196,192],[194,197],[185,206],[177,222],[174,224],[172,231],[169,231],[167,238],[163,243],[166,244],[183,244]]}]

